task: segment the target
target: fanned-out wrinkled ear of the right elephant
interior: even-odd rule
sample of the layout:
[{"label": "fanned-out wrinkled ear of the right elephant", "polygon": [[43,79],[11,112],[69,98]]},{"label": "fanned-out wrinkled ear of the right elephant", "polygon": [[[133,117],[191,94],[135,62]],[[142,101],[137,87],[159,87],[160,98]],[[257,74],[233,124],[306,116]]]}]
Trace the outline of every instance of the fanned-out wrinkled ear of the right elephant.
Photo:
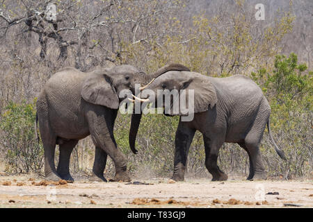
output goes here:
[{"label": "fanned-out wrinkled ear of the right elephant", "polygon": [[[181,89],[186,89],[187,108],[188,105],[193,105],[193,113],[204,112],[209,110],[209,108],[214,108],[218,99],[216,89],[208,76],[194,72],[185,72],[185,74],[188,75],[188,79],[183,81]],[[190,91],[191,89],[193,89],[193,97]],[[191,94],[190,99],[193,99],[193,103],[189,101],[189,94]],[[188,110],[190,109],[188,108]]]}]

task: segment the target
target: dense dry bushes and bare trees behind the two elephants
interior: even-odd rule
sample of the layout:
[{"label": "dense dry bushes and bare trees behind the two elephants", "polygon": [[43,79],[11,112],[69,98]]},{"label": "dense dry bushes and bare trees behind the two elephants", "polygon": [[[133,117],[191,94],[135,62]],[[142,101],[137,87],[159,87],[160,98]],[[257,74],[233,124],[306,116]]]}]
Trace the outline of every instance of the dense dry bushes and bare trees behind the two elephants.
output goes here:
[{"label": "dense dry bushes and bare trees behind the two elephants", "polygon": [[[298,61],[291,51],[282,54],[294,33],[292,5],[268,24],[255,20],[255,5],[249,2],[232,1],[227,10],[216,6],[214,15],[191,10],[192,2],[54,1],[58,16],[51,22],[42,14],[49,1],[0,1],[0,170],[42,171],[34,104],[47,79],[62,67],[89,71],[130,64],[150,72],[179,62],[204,75],[244,74],[255,80],[271,104],[273,137],[287,155],[287,161],[278,157],[266,130],[261,149],[268,175],[312,178],[312,61]],[[129,170],[136,176],[169,176],[178,117],[144,115],[138,155],[129,150],[129,122],[129,115],[119,114],[115,123]],[[79,142],[71,170],[90,172],[93,153],[91,139]],[[236,144],[223,144],[218,164],[232,175],[248,174],[248,155]],[[109,160],[106,173],[112,170]],[[188,173],[208,174],[200,133],[191,144]]]}]

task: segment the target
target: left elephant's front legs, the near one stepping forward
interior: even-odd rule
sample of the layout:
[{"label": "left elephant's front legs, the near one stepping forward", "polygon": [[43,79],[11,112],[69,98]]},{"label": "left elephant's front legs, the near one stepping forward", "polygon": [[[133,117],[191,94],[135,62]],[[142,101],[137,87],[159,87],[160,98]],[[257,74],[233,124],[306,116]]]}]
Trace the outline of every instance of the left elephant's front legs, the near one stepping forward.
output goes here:
[{"label": "left elephant's front legs, the near one stepping forward", "polygon": [[[127,173],[127,161],[125,155],[118,148],[114,135],[113,135],[113,123],[111,123],[113,116],[108,113],[103,114],[90,114],[88,117],[88,124],[90,128],[90,135],[97,148],[102,148],[102,151],[96,150],[94,173],[97,173],[101,177],[103,174],[106,162],[106,156],[109,155],[115,165],[115,181],[130,181]],[[108,122],[106,122],[106,119]],[[100,159],[97,159],[100,158]],[[99,161],[98,161],[99,160]],[[99,164],[97,166],[97,164]]]}]

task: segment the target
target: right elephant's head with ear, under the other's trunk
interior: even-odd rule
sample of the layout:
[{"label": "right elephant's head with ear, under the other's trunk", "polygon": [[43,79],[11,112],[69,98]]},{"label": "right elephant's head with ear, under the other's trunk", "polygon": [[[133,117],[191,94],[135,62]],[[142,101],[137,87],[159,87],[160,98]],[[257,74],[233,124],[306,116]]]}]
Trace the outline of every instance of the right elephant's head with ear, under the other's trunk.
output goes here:
[{"label": "right elephant's head with ear, under the other's trunk", "polygon": [[216,89],[209,78],[191,71],[168,71],[156,78],[141,94],[146,97],[143,101],[158,101],[157,107],[167,108],[165,112],[172,116],[186,116],[186,111],[204,112],[217,102]]}]

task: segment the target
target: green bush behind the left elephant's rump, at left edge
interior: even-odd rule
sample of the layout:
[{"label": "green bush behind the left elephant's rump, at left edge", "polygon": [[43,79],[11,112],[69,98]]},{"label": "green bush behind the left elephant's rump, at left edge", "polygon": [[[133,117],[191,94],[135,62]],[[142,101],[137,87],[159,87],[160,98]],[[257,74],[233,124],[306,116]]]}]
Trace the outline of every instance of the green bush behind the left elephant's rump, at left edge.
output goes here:
[{"label": "green bush behind the left elephant's rump, at left edge", "polygon": [[29,173],[40,171],[43,148],[35,138],[35,101],[10,102],[0,121],[1,141],[6,153],[7,171]]}]

